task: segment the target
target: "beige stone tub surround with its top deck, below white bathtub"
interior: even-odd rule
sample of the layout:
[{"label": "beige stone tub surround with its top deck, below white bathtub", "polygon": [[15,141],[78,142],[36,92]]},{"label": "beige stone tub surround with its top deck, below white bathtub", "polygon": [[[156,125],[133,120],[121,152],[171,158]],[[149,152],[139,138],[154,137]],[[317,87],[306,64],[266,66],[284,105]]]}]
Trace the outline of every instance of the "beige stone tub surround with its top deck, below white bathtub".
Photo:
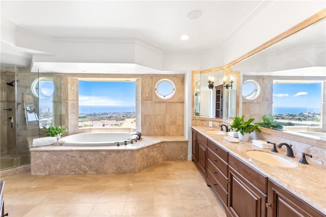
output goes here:
[{"label": "beige stone tub surround with its top deck, below white bathtub", "polygon": [[133,174],[164,160],[186,160],[188,141],[142,137],[132,146],[43,146],[30,148],[32,175]]}]

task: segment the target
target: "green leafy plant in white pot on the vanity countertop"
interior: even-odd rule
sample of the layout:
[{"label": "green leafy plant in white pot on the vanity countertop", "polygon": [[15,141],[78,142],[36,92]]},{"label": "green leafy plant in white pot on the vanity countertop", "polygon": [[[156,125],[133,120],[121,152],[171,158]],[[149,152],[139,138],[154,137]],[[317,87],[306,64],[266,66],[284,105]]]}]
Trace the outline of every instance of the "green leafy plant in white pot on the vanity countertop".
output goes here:
[{"label": "green leafy plant in white pot on the vanity countertop", "polygon": [[238,133],[239,140],[248,141],[250,133],[254,131],[261,132],[258,125],[252,123],[254,120],[254,118],[251,118],[248,121],[244,121],[244,115],[242,117],[236,116],[230,128],[235,129],[236,132],[240,132]]}]

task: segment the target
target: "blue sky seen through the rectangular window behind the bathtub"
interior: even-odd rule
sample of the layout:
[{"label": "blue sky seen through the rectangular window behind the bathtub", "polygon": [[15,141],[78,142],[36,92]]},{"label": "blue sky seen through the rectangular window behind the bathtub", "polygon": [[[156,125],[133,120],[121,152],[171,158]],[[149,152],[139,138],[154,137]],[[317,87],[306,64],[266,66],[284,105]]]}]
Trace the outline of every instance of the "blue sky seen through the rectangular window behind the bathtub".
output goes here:
[{"label": "blue sky seen through the rectangular window behind the bathtub", "polygon": [[79,80],[78,85],[79,105],[135,105],[135,82],[86,82]]}]

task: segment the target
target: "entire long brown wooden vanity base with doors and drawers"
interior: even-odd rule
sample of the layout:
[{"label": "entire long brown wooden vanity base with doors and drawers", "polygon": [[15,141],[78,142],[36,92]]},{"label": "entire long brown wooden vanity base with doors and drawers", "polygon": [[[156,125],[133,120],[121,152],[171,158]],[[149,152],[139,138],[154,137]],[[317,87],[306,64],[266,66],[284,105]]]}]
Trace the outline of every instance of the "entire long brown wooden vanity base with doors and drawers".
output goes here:
[{"label": "entire long brown wooden vanity base with doors and drawers", "polygon": [[194,129],[192,152],[227,216],[325,216]]}]

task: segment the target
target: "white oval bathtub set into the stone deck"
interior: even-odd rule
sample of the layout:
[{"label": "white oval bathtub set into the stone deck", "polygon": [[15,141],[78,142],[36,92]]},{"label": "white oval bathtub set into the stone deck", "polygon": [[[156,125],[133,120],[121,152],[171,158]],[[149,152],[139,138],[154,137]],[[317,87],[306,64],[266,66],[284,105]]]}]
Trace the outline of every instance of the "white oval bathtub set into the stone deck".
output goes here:
[{"label": "white oval bathtub set into the stone deck", "polygon": [[[117,146],[131,143],[130,139],[140,139],[140,135],[127,132],[89,132],[68,135],[59,141],[64,146]],[[126,142],[125,142],[126,141]]]}]

